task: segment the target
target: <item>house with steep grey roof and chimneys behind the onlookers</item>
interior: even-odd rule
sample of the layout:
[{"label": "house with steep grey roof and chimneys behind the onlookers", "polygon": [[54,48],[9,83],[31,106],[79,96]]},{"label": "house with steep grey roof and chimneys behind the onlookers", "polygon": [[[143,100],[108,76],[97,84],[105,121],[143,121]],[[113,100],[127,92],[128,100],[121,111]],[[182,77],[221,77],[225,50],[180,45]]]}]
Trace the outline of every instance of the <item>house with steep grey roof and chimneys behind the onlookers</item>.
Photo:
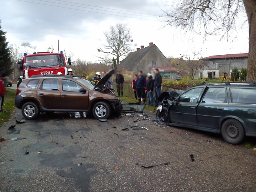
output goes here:
[{"label": "house with steep grey roof and chimneys behind the onlookers", "polygon": [[176,81],[176,74],[179,70],[170,64],[156,44],[152,42],[145,48],[140,46],[136,51],[130,52],[117,66],[118,70],[131,72],[132,74],[138,74],[138,71],[142,70],[143,74],[150,72],[153,76],[154,68],[159,68],[160,74],[164,78]]}]

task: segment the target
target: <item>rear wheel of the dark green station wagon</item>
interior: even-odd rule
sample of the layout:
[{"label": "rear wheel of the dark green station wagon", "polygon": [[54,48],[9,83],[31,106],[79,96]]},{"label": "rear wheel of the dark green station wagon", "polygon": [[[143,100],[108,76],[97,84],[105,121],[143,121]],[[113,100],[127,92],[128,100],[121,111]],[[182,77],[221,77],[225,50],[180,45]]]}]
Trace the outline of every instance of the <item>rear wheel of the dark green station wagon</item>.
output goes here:
[{"label": "rear wheel of the dark green station wagon", "polygon": [[221,127],[221,134],[224,140],[230,144],[240,144],[244,140],[244,128],[235,119],[226,120]]}]

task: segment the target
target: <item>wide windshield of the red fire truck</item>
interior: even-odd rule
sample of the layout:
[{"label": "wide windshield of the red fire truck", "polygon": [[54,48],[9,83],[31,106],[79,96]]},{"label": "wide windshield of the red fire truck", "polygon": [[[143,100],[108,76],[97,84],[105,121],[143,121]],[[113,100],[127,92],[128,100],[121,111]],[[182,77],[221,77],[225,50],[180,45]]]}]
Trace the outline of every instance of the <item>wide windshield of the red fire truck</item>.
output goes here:
[{"label": "wide windshield of the red fire truck", "polygon": [[35,55],[26,57],[28,68],[64,67],[62,55]]}]

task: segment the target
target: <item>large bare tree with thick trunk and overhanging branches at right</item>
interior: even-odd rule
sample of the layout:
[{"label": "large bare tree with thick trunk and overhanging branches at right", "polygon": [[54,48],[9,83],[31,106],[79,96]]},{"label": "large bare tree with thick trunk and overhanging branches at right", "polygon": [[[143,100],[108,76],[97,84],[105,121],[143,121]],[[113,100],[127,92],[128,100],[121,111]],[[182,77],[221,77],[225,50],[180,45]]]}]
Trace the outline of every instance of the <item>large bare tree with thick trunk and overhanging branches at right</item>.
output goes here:
[{"label": "large bare tree with thick trunk and overhanging branches at right", "polygon": [[[164,11],[166,25],[198,34],[228,35],[236,30],[238,18],[247,14],[249,22],[249,59],[247,81],[256,81],[256,0],[182,0]],[[245,19],[246,20],[246,19]],[[240,26],[242,27],[242,25]]]}]

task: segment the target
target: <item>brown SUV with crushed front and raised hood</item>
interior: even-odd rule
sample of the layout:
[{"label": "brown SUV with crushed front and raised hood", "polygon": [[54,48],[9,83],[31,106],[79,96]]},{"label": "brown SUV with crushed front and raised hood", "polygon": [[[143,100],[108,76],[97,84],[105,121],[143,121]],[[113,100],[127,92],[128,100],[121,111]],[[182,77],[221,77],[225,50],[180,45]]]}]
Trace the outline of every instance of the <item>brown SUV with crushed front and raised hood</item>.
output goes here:
[{"label": "brown SUV with crushed front and raised hood", "polygon": [[104,88],[114,74],[110,70],[96,85],[69,75],[34,75],[17,88],[15,105],[26,119],[40,112],[87,112],[97,119],[120,116],[122,106],[112,89]]}]

